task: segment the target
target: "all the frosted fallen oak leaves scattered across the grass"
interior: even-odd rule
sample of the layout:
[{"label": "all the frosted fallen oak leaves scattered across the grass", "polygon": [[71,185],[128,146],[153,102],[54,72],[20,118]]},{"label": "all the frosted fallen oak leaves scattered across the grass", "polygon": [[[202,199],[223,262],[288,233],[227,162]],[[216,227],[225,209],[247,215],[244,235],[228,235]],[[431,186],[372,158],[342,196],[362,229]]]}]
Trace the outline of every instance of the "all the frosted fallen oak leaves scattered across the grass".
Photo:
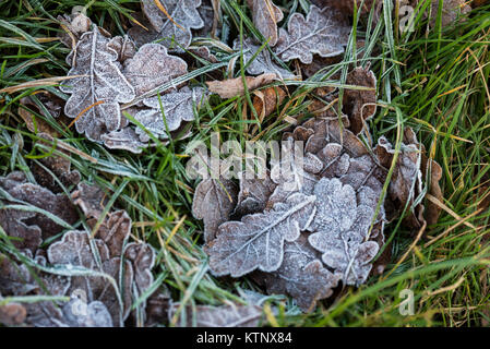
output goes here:
[{"label": "all the frosted fallen oak leaves scattered across the grass", "polygon": [[[222,43],[243,55],[249,75],[207,81],[207,88],[187,82],[193,67],[188,53],[219,62],[214,47],[193,46],[194,37],[219,35],[218,1],[142,0],[138,22],[127,35],[115,37],[84,14],[60,16],[64,29],[60,39],[71,49],[69,79],[60,87],[68,99],[43,94],[35,103],[26,97],[19,115],[48,147],[59,133],[46,120],[56,120],[64,127],[73,123],[89,141],[132,153],[141,153],[155,137],[184,137],[186,124],[195,120],[210,94],[232,98],[253,92],[253,108],[263,121],[290,92],[285,86],[264,86],[311,76],[338,62],[354,9],[362,3],[360,14],[372,10],[374,20],[382,9],[379,0],[357,1],[357,5],[348,0],[311,2],[308,13],[290,13],[282,23],[285,15],[274,1],[244,1],[267,45],[247,36]],[[433,1],[432,17],[438,3]],[[445,1],[443,25],[468,10],[464,1]],[[204,222],[205,251],[216,276],[250,275],[268,293],[289,294],[303,311],[311,311],[340,285],[366,282],[384,245],[386,221],[402,214],[417,229],[437,221],[434,201],[426,207],[420,203],[426,193],[442,198],[442,169],[427,158],[410,129],[404,130],[399,154],[384,137],[373,143],[366,121],[377,111],[377,79],[369,67],[351,69],[346,84],[356,87],[343,94],[333,87],[313,91],[308,101],[314,118],[283,135],[284,153],[290,156],[272,166],[265,177],[248,179],[241,173],[238,183],[224,178],[199,183],[192,210]],[[291,152],[297,141],[306,145],[301,166]],[[79,183],[80,173],[71,170],[68,154],[58,151],[59,155],[33,165],[37,183],[22,172],[0,179],[0,226],[11,239],[12,252],[0,256],[0,323],[258,324],[262,312],[256,304],[200,305],[191,318],[191,309],[171,304],[163,287],[142,301],[154,282],[153,249],[129,242],[128,214],[113,209],[104,214],[107,193]],[[71,197],[51,173],[63,186],[76,186]],[[382,269],[378,263],[377,270]],[[68,297],[69,301],[2,302],[10,296]]]}]

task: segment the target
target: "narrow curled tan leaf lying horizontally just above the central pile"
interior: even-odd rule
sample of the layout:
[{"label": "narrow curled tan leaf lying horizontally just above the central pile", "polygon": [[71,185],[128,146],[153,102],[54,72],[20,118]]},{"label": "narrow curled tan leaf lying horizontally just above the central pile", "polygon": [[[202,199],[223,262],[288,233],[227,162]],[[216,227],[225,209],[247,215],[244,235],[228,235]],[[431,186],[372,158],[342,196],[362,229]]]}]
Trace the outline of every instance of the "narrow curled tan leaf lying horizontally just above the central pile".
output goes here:
[{"label": "narrow curled tan leaf lying horizontally just above the central pile", "polygon": [[[277,79],[276,74],[268,73],[259,76],[246,76],[247,89],[252,91],[272,83]],[[236,77],[223,81],[206,82],[210,92],[218,94],[222,98],[232,98],[236,96],[244,96],[246,87],[243,79]]]}]

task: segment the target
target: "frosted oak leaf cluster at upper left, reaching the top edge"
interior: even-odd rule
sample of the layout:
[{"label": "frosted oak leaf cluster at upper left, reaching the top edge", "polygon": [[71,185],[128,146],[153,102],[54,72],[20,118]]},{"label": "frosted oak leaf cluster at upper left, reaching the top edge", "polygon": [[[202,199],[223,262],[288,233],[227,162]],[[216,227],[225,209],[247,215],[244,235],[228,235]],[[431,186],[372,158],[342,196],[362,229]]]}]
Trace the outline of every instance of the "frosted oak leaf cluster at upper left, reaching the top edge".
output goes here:
[{"label": "frosted oak leaf cluster at upper left, reaching the top edge", "polygon": [[[62,106],[63,117],[72,119],[76,131],[91,141],[111,149],[141,153],[154,137],[184,137],[184,123],[195,119],[208,93],[229,98],[275,80],[298,79],[284,63],[275,62],[272,53],[284,62],[298,59],[311,63],[313,57],[344,51],[350,26],[335,9],[312,5],[306,17],[294,13],[287,29],[279,29],[277,23],[284,15],[273,1],[247,3],[268,47],[261,49],[261,43],[248,37],[243,43],[235,40],[234,49],[243,51],[246,62],[256,56],[247,69],[252,76],[207,82],[208,92],[174,82],[189,73],[183,60],[187,52],[217,61],[211,46],[191,45],[194,34],[214,36],[219,32],[216,1],[143,0],[142,13],[135,15],[139,22],[128,35],[115,37],[82,13],[60,16],[65,31],[60,39],[72,49],[67,57],[70,79],[61,86],[69,95]],[[267,108],[272,112],[265,100],[258,106],[262,118]]]}]

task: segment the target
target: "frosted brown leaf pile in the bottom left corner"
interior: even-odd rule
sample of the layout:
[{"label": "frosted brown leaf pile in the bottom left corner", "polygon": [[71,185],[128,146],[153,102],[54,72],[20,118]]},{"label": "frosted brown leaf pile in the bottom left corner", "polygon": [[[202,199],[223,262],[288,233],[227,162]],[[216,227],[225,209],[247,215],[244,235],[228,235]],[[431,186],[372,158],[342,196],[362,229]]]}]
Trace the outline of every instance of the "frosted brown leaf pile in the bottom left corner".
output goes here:
[{"label": "frosted brown leaf pile in the bottom left corner", "polygon": [[[12,172],[0,178],[0,227],[11,241],[10,253],[0,255],[0,294],[68,298],[3,304],[0,323],[108,327],[155,322],[146,314],[155,312],[152,299],[159,293],[136,304],[154,282],[155,253],[145,242],[129,242],[132,224],[124,210],[103,216],[106,194],[98,186],[79,183],[70,198]],[[69,228],[79,221],[76,206],[86,221],[77,230]],[[46,245],[48,239],[55,242]]]}]

